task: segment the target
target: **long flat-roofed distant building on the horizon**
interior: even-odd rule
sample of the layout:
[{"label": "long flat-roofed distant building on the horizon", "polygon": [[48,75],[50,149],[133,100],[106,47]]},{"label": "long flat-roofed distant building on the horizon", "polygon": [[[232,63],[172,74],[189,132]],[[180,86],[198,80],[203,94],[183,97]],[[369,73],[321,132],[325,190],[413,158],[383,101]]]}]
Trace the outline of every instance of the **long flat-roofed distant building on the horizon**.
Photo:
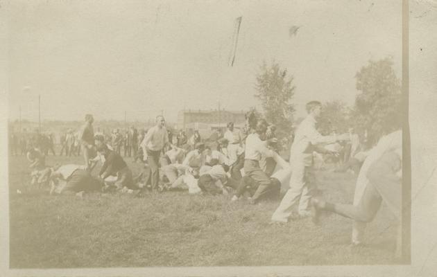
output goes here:
[{"label": "long flat-roofed distant building on the horizon", "polygon": [[234,125],[243,126],[246,118],[244,111],[225,110],[194,110],[186,109],[178,112],[178,129],[189,128],[192,123],[205,123],[210,127],[226,127],[226,123],[233,122]]}]

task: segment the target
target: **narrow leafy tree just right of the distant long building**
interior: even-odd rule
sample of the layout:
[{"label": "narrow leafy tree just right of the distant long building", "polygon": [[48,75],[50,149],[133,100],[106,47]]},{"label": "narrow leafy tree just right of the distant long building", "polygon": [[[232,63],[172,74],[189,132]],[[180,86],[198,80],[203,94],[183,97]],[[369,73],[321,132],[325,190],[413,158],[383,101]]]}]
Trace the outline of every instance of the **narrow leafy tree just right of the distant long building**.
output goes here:
[{"label": "narrow leafy tree just right of the distant long building", "polygon": [[288,137],[293,126],[295,109],[290,100],[295,87],[292,82],[293,75],[287,75],[286,69],[275,62],[271,66],[264,62],[257,74],[255,97],[261,100],[266,120],[277,126],[278,139]]}]

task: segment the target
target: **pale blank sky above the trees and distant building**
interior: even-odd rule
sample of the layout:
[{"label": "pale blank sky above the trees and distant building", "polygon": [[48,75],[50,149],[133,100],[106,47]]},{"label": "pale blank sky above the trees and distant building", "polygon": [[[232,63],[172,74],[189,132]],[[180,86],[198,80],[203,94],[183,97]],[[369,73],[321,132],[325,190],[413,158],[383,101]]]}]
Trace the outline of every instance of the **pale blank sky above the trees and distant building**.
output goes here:
[{"label": "pale blank sky above the trees and distant building", "polygon": [[[309,100],[357,93],[355,73],[393,56],[401,75],[402,1],[11,1],[9,114],[42,119],[154,118],[183,109],[248,109],[275,60]],[[233,67],[234,20],[243,17]],[[300,26],[290,37],[289,28]]]}]

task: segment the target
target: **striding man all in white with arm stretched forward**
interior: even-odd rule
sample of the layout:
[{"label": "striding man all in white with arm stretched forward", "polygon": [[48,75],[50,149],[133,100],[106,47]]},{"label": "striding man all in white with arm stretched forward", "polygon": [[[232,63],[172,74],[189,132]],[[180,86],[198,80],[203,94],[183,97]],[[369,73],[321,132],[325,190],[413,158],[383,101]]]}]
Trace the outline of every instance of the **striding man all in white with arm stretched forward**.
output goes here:
[{"label": "striding man all in white with arm stretched forward", "polygon": [[320,117],[322,104],[318,101],[308,102],[306,105],[308,116],[302,120],[295,132],[295,139],[290,150],[292,173],[290,188],[273,213],[272,222],[288,222],[292,208],[299,203],[298,213],[301,216],[311,215],[309,200],[314,184],[311,182],[311,169],[314,165],[313,152],[318,151],[316,145],[320,143],[335,143],[348,140],[348,134],[342,136],[322,136],[316,129],[317,119]]}]

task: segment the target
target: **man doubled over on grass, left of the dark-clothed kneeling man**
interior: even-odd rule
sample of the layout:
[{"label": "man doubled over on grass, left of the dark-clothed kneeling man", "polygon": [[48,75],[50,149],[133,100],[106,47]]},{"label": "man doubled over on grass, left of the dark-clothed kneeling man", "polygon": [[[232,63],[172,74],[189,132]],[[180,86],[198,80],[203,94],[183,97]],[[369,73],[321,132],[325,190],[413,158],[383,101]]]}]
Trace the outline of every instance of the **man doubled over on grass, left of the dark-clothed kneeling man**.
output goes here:
[{"label": "man doubled over on grass, left of the dark-clothed kneeling man", "polygon": [[71,195],[76,193],[79,197],[85,192],[101,191],[104,187],[102,181],[94,178],[86,170],[86,166],[68,164],[54,166],[50,175],[50,195]]}]

